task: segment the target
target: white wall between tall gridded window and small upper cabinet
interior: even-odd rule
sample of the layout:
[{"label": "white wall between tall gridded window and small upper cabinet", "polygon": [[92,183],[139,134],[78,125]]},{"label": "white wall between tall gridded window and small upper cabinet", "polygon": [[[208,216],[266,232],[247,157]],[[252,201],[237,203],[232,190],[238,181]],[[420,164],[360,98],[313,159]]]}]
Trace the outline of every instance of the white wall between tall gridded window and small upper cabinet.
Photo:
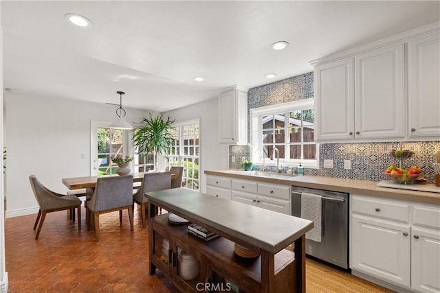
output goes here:
[{"label": "white wall between tall gridded window and small upper cabinet", "polygon": [[229,169],[228,146],[219,144],[219,107],[217,99],[165,112],[176,123],[200,121],[200,191],[206,192],[205,170]]}]

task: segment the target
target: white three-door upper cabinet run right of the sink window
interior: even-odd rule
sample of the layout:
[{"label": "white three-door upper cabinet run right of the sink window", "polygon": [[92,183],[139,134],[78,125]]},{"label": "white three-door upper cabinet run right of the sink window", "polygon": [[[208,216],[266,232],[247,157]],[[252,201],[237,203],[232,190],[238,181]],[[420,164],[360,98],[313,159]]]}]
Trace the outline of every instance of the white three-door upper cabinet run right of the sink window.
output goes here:
[{"label": "white three-door upper cabinet run right of the sink window", "polygon": [[316,140],[440,139],[439,23],[312,61]]}]

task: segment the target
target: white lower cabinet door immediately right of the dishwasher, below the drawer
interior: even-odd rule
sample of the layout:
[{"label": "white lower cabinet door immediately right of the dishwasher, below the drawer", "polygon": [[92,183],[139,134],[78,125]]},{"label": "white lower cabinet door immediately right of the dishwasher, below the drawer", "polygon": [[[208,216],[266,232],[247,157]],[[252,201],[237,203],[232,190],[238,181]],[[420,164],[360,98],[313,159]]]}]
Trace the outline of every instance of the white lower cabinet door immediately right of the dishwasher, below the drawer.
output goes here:
[{"label": "white lower cabinet door immediately right of the dishwasher, below the drawer", "polygon": [[410,226],[352,215],[351,268],[410,287]]}]

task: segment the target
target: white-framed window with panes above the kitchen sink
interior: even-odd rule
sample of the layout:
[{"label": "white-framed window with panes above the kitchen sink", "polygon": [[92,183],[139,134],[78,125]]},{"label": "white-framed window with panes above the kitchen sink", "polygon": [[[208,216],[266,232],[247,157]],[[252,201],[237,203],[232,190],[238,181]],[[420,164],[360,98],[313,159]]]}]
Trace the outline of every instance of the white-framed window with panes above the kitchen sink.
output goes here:
[{"label": "white-framed window with panes above the kitchen sink", "polygon": [[318,166],[313,99],[254,108],[251,117],[252,161],[263,163],[277,148],[280,161],[287,165]]}]

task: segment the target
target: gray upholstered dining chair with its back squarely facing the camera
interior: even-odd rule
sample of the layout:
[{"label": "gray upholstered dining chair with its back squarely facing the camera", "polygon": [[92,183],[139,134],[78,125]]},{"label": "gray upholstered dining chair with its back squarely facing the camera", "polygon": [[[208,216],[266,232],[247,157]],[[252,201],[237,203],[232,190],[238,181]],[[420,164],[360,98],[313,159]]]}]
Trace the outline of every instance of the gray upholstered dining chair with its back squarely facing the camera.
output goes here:
[{"label": "gray upholstered dining chair with its back squarely facing the camera", "polygon": [[[131,231],[133,231],[133,176],[100,177],[96,188],[87,202],[87,227],[94,219],[96,241],[99,241],[99,215],[119,211],[119,222],[122,224],[122,210],[129,211]],[[92,216],[93,215],[93,216]]]}]

